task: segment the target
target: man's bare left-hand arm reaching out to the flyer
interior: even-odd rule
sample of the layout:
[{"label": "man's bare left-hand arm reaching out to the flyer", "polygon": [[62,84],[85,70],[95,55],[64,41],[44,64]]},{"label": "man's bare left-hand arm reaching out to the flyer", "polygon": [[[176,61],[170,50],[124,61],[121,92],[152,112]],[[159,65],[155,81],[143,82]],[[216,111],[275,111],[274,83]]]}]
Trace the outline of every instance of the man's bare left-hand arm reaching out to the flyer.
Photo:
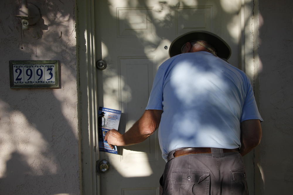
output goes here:
[{"label": "man's bare left-hand arm reaching out to the flyer", "polygon": [[146,140],[159,127],[161,121],[161,110],[146,110],[142,117],[125,134],[117,130],[110,130],[105,140],[111,148],[113,146],[128,146]]}]

